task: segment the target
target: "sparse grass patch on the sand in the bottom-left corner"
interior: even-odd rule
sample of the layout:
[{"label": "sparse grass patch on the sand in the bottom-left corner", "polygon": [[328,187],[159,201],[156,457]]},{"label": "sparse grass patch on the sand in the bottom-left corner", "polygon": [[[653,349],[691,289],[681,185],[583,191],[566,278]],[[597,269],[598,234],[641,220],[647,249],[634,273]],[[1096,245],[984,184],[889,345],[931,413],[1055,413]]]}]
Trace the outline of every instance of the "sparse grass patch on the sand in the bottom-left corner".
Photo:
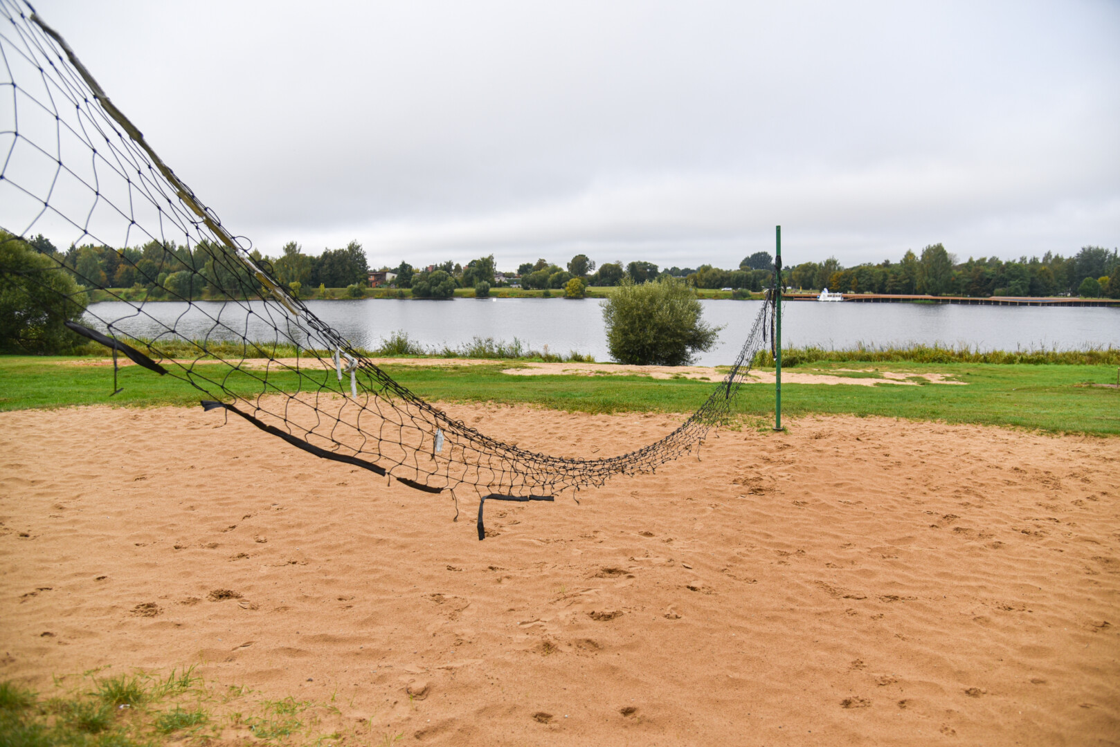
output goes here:
[{"label": "sparse grass patch on the sand in the bottom-left corner", "polygon": [[[104,675],[94,670],[55,678],[49,693],[0,682],[4,747],[140,747],[183,744],[335,744],[327,732],[339,711],[329,703],[253,698],[242,687],[207,684],[194,667],[165,676]],[[372,738],[371,735],[354,735]],[[231,740],[231,741],[226,741]]]}]

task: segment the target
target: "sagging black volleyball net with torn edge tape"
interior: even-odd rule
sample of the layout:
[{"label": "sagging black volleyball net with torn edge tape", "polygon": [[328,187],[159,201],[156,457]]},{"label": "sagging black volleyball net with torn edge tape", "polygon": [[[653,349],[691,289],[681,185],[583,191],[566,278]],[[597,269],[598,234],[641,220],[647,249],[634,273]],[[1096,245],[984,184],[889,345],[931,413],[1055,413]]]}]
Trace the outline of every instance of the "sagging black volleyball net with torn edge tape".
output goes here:
[{"label": "sagging black volleyball net with torn edge tape", "polygon": [[[188,382],[207,409],[233,412],[316,456],[418,491],[448,492],[456,505],[474,494],[479,539],[486,499],[548,501],[615,475],[652,471],[698,448],[730,415],[765,342],[768,305],[700,409],[628,454],[553,457],[449,418],[279,282],[164,164],[30,4],[0,0],[0,282],[18,277],[39,291],[36,298],[49,299],[40,301],[44,314],[112,348],[114,376],[121,352]],[[12,244],[35,246],[32,233],[69,237],[72,249],[19,263]],[[112,272],[88,261],[90,246],[119,248],[102,250]],[[84,288],[59,283],[60,269]],[[122,278],[133,287],[119,289]],[[90,290],[111,302],[85,310]],[[168,321],[152,300],[178,301],[181,314]]]}]

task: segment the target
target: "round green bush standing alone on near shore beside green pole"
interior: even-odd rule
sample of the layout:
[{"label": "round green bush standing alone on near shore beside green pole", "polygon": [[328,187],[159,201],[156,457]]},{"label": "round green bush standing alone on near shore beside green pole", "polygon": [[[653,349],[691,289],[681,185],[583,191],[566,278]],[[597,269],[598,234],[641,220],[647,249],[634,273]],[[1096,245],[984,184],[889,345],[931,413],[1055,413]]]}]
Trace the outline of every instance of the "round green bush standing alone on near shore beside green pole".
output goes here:
[{"label": "round green bush standing alone on near shore beside green pole", "polygon": [[719,327],[702,319],[700,301],[676,278],[635,283],[624,278],[603,302],[610,357],[636,365],[684,365],[716,344]]}]

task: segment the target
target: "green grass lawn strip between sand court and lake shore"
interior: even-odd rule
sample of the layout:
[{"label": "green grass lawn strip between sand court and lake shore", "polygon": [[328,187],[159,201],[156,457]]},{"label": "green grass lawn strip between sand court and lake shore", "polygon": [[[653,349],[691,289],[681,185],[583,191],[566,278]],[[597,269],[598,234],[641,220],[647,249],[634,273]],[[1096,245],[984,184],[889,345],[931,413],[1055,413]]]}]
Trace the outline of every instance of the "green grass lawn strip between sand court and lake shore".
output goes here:
[{"label": "green grass lawn strip between sand court and lake shore", "polygon": [[[203,394],[172,376],[158,376],[139,366],[121,368],[119,386],[112,392],[110,366],[73,365],[75,358],[30,356],[0,357],[0,410],[57,408],[81,404],[155,405],[197,404]],[[517,363],[495,362],[470,366],[389,366],[401,384],[432,401],[524,403],[581,412],[691,412],[712,389],[711,382],[653,380],[644,376],[512,376],[502,370]],[[846,373],[838,368],[879,368],[902,373],[941,373],[965,386],[922,384],[897,386],[846,386],[784,384],[783,413],[846,413],[886,415],[913,420],[1017,426],[1051,431],[1120,433],[1120,390],[1079,386],[1112,383],[1117,368],[1091,365],[992,365],[992,364],[852,364],[819,363],[799,366],[797,373]],[[211,380],[225,376],[226,384],[243,394],[260,391],[258,379],[231,371],[223,364],[205,364],[197,372]],[[262,376],[256,372],[255,376]],[[334,372],[321,372],[337,386]],[[269,385],[295,389],[291,374],[274,373]],[[205,382],[199,382],[206,385]],[[212,385],[209,399],[221,391]],[[773,412],[773,386],[743,387],[738,409],[745,415],[766,417]]]}]

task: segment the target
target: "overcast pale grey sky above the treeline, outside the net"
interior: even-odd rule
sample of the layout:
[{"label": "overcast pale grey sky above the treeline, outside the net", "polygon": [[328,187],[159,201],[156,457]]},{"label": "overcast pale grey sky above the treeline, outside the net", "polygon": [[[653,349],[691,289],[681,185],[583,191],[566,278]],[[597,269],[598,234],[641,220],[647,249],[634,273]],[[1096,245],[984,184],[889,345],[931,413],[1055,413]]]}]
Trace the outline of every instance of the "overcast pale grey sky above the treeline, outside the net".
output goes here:
[{"label": "overcast pale grey sky above the treeline, outside the net", "polygon": [[267,254],[1120,245],[1113,1],[35,4]]}]

